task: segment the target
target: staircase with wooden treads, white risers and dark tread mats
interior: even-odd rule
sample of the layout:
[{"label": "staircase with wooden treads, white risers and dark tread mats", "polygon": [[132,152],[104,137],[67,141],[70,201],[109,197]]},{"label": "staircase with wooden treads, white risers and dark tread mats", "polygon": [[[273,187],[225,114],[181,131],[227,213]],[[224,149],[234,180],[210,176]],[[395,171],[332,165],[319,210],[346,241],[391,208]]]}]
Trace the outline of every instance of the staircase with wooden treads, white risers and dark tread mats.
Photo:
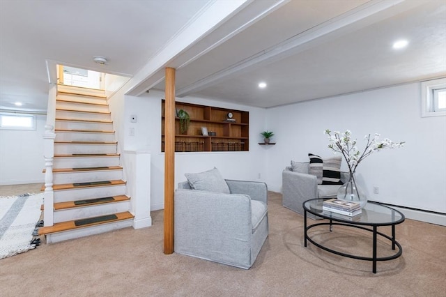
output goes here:
[{"label": "staircase with wooden treads, white risers and dark tread mats", "polygon": [[59,85],[54,132],[54,224],[38,234],[54,243],[132,226],[104,92]]}]

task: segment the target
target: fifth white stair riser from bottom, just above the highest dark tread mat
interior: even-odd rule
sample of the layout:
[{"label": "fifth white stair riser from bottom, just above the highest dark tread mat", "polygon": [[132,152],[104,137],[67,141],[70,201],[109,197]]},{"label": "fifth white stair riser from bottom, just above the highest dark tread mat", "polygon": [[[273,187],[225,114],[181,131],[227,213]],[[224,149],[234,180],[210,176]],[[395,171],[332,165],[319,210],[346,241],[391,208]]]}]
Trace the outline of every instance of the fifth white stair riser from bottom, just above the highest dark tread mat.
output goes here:
[{"label": "fifth white stair riser from bottom, just above the highest dark tread mat", "polygon": [[119,157],[60,157],[54,158],[54,168],[118,166]]}]

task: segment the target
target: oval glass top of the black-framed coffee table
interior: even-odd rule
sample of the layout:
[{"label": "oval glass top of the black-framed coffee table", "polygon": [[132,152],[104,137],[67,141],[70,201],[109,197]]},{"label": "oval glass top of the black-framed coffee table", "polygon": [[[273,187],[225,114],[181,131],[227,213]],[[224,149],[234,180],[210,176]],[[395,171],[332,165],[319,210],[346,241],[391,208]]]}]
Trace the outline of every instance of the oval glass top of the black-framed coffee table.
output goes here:
[{"label": "oval glass top of the black-framed coffee table", "polygon": [[313,213],[318,217],[331,219],[340,222],[349,222],[352,224],[367,224],[370,226],[385,226],[391,224],[399,224],[404,221],[403,213],[374,202],[367,202],[362,208],[362,213],[350,217],[348,215],[339,215],[330,211],[323,211],[323,201],[327,199],[309,199],[304,202],[303,207],[309,213]]}]

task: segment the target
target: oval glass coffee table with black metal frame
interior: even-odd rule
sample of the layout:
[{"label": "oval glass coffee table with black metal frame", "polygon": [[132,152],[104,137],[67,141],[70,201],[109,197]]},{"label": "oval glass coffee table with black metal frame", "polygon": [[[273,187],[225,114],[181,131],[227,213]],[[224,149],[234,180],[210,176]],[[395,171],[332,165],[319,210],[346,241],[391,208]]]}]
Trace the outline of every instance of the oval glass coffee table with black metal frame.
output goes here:
[{"label": "oval glass coffee table with black metal frame", "polygon": [[[404,222],[404,215],[388,206],[383,206],[381,204],[377,204],[374,202],[367,202],[365,208],[362,209],[362,214],[356,215],[355,217],[348,217],[346,215],[338,215],[337,213],[331,213],[328,211],[322,210],[323,201],[327,199],[309,199],[305,201],[302,206],[304,208],[304,230],[305,230],[305,247],[307,246],[307,241],[313,243],[318,248],[326,250],[328,252],[332,252],[333,254],[339,254],[340,256],[372,261],[372,271],[376,273],[376,262],[377,261],[388,261],[392,259],[397,259],[403,253],[403,248],[395,239],[395,225],[401,224]],[[317,217],[327,219],[329,222],[318,222],[315,224],[307,225],[307,213],[312,213]],[[337,250],[332,250],[330,248],[325,247],[321,243],[316,243],[314,239],[312,239],[308,235],[308,230],[317,226],[327,225],[330,231],[333,230],[334,225],[353,227],[362,230],[370,231],[373,234],[372,240],[372,252],[371,257],[362,257],[356,256],[354,254],[346,254],[344,252],[339,252]],[[391,226],[392,227],[392,236],[387,236],[381,232],[378,232],[378,227],[381,226]],[[382,236],[383,238],[387,238],[392,244],[392,250],[395,250],[395,247],[398,248],[395,254],[392,254],[389,257],[377,257],[376,256],[376,239],[377,237]]]}]

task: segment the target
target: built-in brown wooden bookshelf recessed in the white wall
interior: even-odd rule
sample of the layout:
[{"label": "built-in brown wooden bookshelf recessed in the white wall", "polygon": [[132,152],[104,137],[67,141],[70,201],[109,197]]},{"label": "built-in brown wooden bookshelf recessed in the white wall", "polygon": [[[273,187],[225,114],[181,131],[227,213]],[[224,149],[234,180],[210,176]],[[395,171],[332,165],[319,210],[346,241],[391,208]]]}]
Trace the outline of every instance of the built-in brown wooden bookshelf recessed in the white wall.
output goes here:
[{"label": "built-in brown wooden bookshelf recessed in the white wall", "polygon": [[[164,152],[164,100],[161,109]],[[249,112],[183,102],[176,102],[175,109],[176,113],[183,109],[190,116],[187,132],[180,134],[180,119],[175,115],[175,151],[249,151]]]}]

